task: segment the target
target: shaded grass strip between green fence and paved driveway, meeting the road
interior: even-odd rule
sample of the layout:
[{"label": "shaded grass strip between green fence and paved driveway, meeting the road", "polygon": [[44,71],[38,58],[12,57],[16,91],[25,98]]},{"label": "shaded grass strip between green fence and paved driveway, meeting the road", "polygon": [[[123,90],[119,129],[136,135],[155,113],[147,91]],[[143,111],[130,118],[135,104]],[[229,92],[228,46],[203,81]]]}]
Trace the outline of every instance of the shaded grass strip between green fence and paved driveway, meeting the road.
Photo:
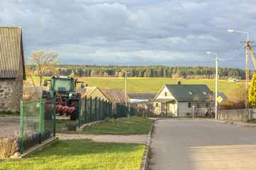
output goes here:
[{"label": "shaded grass strip between green fence and paved driveway, meeting the road", "polygon": [[94,126],[83,132],[67,131],[65,123],[68,120],[57,121],[57,132],[66,132],[73,134],[111,134],[111,135],[135,135],[135,134],[148,134],[151,128],[151,123],[154,120],[147,118],[124,118],[119,120],[110,120],[109,122],[100,123],[100,125]]}]

